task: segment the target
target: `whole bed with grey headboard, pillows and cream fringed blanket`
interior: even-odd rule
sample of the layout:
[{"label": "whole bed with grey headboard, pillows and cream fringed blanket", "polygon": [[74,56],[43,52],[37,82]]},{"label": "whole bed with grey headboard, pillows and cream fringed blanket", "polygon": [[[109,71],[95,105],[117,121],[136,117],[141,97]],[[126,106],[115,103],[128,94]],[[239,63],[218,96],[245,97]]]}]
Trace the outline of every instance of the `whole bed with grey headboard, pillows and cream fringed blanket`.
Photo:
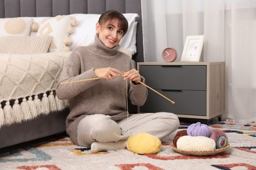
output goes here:
[{"label": "whole bed with grey headboard, pillows and cream fringed blanket", "polygon": [[[121,50],[131,55],[135,65],[137,62],[144,61],[140,0],[0,0],[0,148],[66,131],[65,120],[69,112],[68,101],[59,101],[54,92],[58,75],[70,52],[76,46],[90,43],[89,41],[81,42],[92,37],[91,30],[85,28],[86,24],[81,25],[83,19],[89,17],[88,20],[95,22],[95,18],[99,14],[110,9],[119,10],[119,12],[127,15],[125,17],[130,17],[132,22],[129,22],[129,29],[135,29],[132,31],[133,35],[130,34],[131,37],[128,36],[126,42],[123,42]],[[138,16],[135,16],[135,14]],[[134,21],[131,15],[135,16]],[[56,39],[54,35],[43,36],[45,29],[42,29],[42,27],[51,24],[50,22],[45,24],[45,21],[53,20],[53,18],[59,20],[62,17],[68,17],[69,25],[67,28],[69,32],[68,39],[65,37],[62,44],[60,44],[60,52],[58,51],[60,48],[56,47],[59,39]],[[25,18],[26,24],[31,24],[29,35],[18,36],[19,40],[13,40],[14,37],[12,36],[5,39],[5,36],[9,33],[17,31],[13,29],[16,28],[16,25],[7,21],[7,19],[11,20],[13,18]],[[8,23],[12,29],[9,31],[1,29],[3,22],[5,22],[5,25]],[[131,26],[132,23],[133,26]],[[21,27],[20,25],[18,27]],[[81,31],[81,29],[86,29],[91,35],[83,35],[83,37],[81,33],[77,34],[77,31]],[[3,33],[3,31],[6,31],[6,33]],[[43,41],[46,47],[37,45],[35,53],[34,48],[30,46],[36,46],[37,43],[35,42],[38,41],[35,39],[39,35],[43,37],[43,40],[40,39],[39,42]],[[29,41],[28,37],[30,37]],[[56,41],[55,46],[53,45],[54,39]],[[24,41],[30,42],[30,46],[22,46]],[[127,45],[131,41],[133,41],[133,44]],[[131,48],[135,50],[131,50],[125,45],[132,46]],[[14,47],[11,54],[9,54],[9,46]],[[58,50],[54,51],[54,49]],[[21,64],[21,60],[22,63],[26,63]],[[44,67],[45,65],[47,67]],[[9,72],[7,73],[7,71]],[[20,74],[20,72],[26,74]],[[35,78],[34,74],[36,73],[40,80]],[[28,78],[24,75],[30,76]],[[16,82],[9,78],[12,76],[21,78]],[[43,79],[45,77],[48,77],[49,80]],[[32,79],[34,81],[28,84]],[[42,83],[47,81],[49,82],[47,85]],[[22,83],[24,84],[22,85]],[[43,84],[41,88],[43,86],[46,88],[40,89],[39,84]],[[8,91],[10,87],[12,89],[11,93]],[[30,94],[27,95],[26,91]],[[39,102],[37,105],[35,105],[36,101]],[[129,105],[129,107],[131,112],[136,112],[136,106]],[[33,114],[32,108],[37,114]],[[10,116],[14,112],[15,120],[15,116]],[[9,113],[9,116],[7,116],[7,113]],[[18,118],[19,116],[22,116],[22,118]],[[6,122],[6,120],[8,121]]]}]

